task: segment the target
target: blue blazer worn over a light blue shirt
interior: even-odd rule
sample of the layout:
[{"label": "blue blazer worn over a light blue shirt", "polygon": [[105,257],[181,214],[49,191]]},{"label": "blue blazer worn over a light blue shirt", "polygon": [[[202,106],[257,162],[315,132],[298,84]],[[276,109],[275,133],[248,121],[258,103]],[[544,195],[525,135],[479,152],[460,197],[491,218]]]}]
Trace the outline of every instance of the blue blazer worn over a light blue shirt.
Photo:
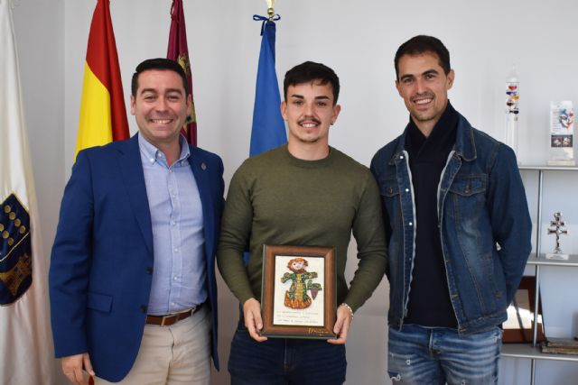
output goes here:
[{"label": "blue blazer worn over a light blue shirt", "polygon": [[[135,362],[153,279],[153,231],[137,135],[80,151],[64,190],[49,287],[56,357],[90,354],[98,377],[122,380]],[[223,163],[191,147],[204,219],[212,358],[217,354],[215,252]]]}]

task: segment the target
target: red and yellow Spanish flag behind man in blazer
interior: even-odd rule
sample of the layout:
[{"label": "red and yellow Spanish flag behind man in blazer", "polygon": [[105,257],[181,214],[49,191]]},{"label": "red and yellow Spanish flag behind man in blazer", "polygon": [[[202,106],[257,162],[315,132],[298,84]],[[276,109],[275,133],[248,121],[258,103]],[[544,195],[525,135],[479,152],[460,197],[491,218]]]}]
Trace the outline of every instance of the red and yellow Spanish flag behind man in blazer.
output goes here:
[{"label": "red and yellow Spanish flag behind man in blazer", "polygon": [[98,0],[90,23],[76,154],[129,137],[109,2]]}]

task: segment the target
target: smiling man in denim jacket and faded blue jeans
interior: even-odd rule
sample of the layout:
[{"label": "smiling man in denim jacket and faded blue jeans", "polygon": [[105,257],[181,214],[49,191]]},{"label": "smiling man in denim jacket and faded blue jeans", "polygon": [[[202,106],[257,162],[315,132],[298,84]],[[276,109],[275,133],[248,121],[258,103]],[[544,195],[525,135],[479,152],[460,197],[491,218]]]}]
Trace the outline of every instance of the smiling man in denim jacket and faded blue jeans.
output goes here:
[{"label": "smiling man in denim jacket and faded blue jeans", "polygon": [[499,326],[531,251],[516,156],[453,109],[442,41],[415,36],[395,64],[409,124],[371,161],[389,247],[389,375],[497,383]]}]

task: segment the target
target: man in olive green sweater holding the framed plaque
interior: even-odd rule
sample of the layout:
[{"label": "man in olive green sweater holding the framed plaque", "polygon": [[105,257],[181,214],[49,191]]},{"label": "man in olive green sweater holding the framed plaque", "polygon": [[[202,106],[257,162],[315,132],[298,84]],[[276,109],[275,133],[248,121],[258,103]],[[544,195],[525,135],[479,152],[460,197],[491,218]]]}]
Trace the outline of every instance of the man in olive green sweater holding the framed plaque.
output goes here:
[{"label": "man in olive green sweater holding the framed plaque", "polygon": [[[329,128],[340,113],[339,89],[337,75],[322,64],[307,61],[290,69],[281,104],[288,144],[246,160],[231,180],[217,261],[243,305],[228,362],[233,385],[343,383],[353,312],[385,273],[377,184],[365,166],[329,146]],[[351,232],[359,266],[348,289],[344,271]],[[264,244],[335,248],[340,306],[333,332],[338,338],[267,340],[259,335]]]}]

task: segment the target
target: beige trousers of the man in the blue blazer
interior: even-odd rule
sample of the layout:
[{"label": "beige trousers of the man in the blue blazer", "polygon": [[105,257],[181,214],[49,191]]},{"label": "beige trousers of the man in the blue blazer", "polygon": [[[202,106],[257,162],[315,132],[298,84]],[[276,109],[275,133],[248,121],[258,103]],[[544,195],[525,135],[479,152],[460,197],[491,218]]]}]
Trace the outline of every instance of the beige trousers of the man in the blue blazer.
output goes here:
[{"label": "beige trousers of the man in the blue blazer", "polygon": [[144,325],[133,368],[120,382],[95,385],[209,385],[210,312],[204,306],[171,326]]}]

